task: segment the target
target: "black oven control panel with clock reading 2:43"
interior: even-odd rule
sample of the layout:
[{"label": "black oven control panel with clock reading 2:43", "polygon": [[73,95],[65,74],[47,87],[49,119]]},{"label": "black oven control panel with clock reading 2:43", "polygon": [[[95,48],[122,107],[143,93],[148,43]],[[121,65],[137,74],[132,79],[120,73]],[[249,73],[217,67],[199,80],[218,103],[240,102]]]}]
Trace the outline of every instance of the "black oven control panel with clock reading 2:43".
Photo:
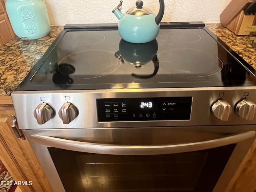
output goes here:
[{"label": "black oven control panel with clock reading 2:43", "polygon": [[99,122],[190,120],[192,97],[97,99]]}]

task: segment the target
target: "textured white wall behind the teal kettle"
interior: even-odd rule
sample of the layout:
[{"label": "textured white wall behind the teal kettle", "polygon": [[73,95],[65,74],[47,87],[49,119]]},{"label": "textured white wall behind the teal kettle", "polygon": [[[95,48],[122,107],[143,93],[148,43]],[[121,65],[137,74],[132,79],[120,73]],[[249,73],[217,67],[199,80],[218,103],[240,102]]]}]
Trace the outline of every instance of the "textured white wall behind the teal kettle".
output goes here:
[{"label": "textured white wall behind the teal kettle", "polygon": [[[120,0],[44,0],[51,25],[79,23],[117,23],[112,14]],[[162,22],[203,21],[219,23],[220,13],[231,0],[165,0]],[[124,0],[123,11],[135,6],[136,0]],[[144,0],[144,6],[158,13],[158,0]]]}]

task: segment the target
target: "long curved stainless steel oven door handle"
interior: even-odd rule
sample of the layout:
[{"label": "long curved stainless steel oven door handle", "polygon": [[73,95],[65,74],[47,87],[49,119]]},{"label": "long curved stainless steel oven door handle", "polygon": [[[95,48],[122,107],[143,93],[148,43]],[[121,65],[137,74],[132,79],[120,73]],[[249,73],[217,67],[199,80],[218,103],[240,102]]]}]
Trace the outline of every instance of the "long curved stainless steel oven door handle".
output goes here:
[{"label": "long curved stainless steel oven door handle", "polygon": [[231,134],[222,138],[201,142],[171,144],[171,145],[114,145],[80,142],[44,135],[32,135],[32,142],[43,144],[49,147],[61,148],[78,152],[112,154],[112,155],[158,155],[192,152],[236,144],[253,138],[255,131],[247,131],[239,134]]}]

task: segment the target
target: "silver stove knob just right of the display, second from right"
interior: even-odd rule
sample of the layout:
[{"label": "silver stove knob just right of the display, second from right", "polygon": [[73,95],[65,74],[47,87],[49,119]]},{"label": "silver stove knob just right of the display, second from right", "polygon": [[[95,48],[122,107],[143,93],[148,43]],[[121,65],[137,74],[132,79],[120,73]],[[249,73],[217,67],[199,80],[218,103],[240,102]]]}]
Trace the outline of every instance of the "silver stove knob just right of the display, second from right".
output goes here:
[{"label": "silver stove knob just right of the display, second from right", "polygon": [[222,121],[227,121],[231,112],[232,108],[225,100],[218,100],[212,106],[212,114]]}]

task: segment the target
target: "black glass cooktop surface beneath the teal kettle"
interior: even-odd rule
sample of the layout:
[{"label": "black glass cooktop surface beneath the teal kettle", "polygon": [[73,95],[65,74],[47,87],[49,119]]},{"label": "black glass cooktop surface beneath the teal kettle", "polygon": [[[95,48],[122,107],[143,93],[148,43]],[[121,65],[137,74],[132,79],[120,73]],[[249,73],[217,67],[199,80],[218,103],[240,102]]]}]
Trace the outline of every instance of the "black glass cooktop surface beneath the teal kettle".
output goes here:
[{"label": "black glass cooktop surface beneath the teal kettle", "polygon": [[65,26],[19,90],[255,86],[255,70],[202,22],[162,23],[144,44],[117,26]]}]

